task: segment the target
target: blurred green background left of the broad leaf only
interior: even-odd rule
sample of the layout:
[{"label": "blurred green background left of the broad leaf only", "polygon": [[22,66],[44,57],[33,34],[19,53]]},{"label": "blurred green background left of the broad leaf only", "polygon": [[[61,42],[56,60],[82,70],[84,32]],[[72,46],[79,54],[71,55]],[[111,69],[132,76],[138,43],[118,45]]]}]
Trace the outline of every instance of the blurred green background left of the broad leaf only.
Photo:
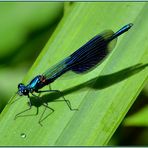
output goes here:
[{"label": "blurred green background left of the broad leaf only", "polygon": [[0,110],[63,15],[63,3],[0,3]]}]

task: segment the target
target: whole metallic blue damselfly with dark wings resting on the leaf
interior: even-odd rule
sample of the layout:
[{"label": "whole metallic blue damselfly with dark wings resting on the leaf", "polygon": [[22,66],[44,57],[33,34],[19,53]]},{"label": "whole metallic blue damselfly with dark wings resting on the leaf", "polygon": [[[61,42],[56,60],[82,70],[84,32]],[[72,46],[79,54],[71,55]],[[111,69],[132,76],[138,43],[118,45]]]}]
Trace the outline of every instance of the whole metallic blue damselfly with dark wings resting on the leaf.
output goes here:
[{"label": "whole metallic blue damselfly with dark wings resting on the leaf", "polygon": [[[53,67],[49,68],[47,71],[45,71],[42,75],[37,75],[35,78],[31,80],[31,82],[28,85],[24,85],[20,83],[18,85],[18,92],[20,96],[28,96],[29,98],[29,109],[32,107],[31,101],[30,101],[30,95],[32,94],[35,97],[38,97],[34,94],[36,93],[42,93],[42,92],[57,92],[60,93],[63,97],[63,101],[65,101],[69,107],[70,110],[76,110],[72,109],[70,101],[66,100],[65,97],[62,95],[62,92],[59,90],[40,90],[46,85],[49,85],[53,81],[55,81],[57,78],[59,78],[61,75],[68,71],[72,71],[77,74],[81,74],[84,72],[87,72],[94,68],[96,65],[100,64],[102,60],[105,59],[105,57],[109,54],[111,44],[114,42],[115,47],[115,41],[118,36],[123,34],[124,32],[128,31],[132,27],[132,23],[125,25],[122,27],[119,31],[114,33],[111,30],[104,31],[103,33],[100,33],[93,37],[90,41],[88,41],[86,44],[84,44],[82,47],[80,47],[78,50],[76,50],[73,54],[62,60],[61,62],[57,63]],[[54,112],[54,109],[50,108],[47,103],[43,103],[45,108],[48,108],[51,110],[51,113]],[[24,113],[24,110],[20,113],[18,113],[15,118],[20,117],[20,114]],[[37,111],[38,113],[38,111]],[[42,114],[43,115],[43,114]],[[40,117],[39,123],[45,119],[46,117],[42,118]]]}]

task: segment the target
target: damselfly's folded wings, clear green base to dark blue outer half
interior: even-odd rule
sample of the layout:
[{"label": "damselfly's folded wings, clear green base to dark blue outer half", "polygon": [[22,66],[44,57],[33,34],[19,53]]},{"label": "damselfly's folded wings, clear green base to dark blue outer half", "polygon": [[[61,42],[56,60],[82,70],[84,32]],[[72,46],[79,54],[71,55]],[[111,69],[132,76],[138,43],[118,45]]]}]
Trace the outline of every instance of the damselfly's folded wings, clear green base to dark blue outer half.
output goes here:
[{"label": "damselfly's folded wings, clear green base to dark blue outer half", "polygon": [[108,55],[109,50],[115,47],[116,42],[113,42],[114,40],[108,42],[113,34],[113,31],[108,30],[95,36],[69,57],[45,71],[43,75],[47,79],[56,79],[69,70],[75,73],[83,73],[94,68]]}]

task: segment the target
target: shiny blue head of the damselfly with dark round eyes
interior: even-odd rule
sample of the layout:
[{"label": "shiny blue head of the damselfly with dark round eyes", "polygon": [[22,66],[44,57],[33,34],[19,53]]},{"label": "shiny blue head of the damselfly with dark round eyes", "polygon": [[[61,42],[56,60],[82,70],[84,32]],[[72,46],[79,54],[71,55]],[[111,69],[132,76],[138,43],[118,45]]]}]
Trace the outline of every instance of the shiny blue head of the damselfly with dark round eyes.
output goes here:
[{"label": "shiny blue head of the damselfly with dark round eyes", "polygon": [[24,84],[20,83],[18,85],[18,92],[17,92],[17,94],[20,95],[20,96],[23,96],[23,95],[26,96],[26,95],[29,94],[29,90],[27,89],[27,87]]}]

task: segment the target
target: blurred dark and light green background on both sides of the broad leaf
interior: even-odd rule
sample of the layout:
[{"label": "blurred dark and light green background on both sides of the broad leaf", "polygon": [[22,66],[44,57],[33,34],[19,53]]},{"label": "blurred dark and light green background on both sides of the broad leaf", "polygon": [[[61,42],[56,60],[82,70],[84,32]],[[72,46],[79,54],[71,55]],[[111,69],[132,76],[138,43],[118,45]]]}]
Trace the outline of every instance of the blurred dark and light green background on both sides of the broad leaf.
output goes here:
[{"label": "blurred dark and light green background on both sides of the broad leaf", "polygon": [[[0,2],[0,111],[67,15],[68,2]],[[148,86],[108,145],[148,145]]]}]

